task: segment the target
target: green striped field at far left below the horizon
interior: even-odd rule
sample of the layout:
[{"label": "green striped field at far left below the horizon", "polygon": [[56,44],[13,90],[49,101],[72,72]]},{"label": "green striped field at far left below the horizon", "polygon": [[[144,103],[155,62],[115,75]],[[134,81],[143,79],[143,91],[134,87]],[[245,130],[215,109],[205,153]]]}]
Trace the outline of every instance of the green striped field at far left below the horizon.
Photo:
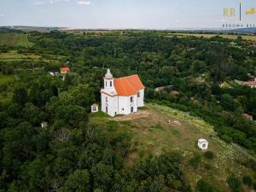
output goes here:
[{"label": "green striped field at far left below the horizon", "polygon": [[30,47],[32,42],[28,41],[27,34],[0,33],[0,45]]}]

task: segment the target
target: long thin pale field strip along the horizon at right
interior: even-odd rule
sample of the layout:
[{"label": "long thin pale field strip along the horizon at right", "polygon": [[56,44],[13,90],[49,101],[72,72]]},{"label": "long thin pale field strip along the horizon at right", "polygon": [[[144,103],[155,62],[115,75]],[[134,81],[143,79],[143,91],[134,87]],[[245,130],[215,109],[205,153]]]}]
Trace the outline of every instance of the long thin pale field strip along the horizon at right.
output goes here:
[{"label": "long thin pale field strip along the horizon at right", "polygon": [[170,33],[170,35],[177,35],[177,36],[192,36],[192,37],[204,37],[204,38],[212,38],[215,36],[219,36],[222,38],[230,38],[236,39],[237,37],[241,37],[246,40],[256,41],[256,35],[229,35],[229,34],[196,34],[196,33]]}]

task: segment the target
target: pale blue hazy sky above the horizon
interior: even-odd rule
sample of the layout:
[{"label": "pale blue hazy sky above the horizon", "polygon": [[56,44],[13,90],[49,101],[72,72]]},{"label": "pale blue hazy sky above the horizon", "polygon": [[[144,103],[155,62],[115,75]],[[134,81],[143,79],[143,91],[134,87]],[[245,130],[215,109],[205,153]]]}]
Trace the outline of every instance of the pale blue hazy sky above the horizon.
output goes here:
[{"label": "pale blue hazy sky above the horizon", "polygon": [[236,8],[238,17],[239,2],[243,21],[256,20],[245,15],[254,0],[0,0],[0,26],[219,28],[230,21],[223,9]]}]

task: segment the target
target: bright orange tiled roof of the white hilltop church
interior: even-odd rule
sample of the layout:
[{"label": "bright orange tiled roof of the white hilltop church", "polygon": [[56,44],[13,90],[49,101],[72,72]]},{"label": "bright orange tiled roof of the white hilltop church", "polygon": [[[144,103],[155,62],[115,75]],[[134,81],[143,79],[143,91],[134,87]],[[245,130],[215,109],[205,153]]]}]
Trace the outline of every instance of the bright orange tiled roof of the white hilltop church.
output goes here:
[{"label": "bright orange tiled roof of the white hilltop church", "polygon": [[113,80],[114,88],[119,96],[136,95],[139,90],[145,89],[137,74]]}]

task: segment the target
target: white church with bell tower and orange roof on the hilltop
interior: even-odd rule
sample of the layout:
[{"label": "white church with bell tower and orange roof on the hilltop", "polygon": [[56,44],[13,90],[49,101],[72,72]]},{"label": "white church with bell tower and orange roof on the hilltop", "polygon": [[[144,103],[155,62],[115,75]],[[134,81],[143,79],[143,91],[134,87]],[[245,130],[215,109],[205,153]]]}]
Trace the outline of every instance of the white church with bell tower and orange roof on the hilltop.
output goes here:
[{"label": "white church with bell tower and orange roof on the hilltop", "polygon": [[138,75],[114,79],[108,69],[104,77],[102,94],[102,112],[110,116],[136,113],[144,106],[145,86]]}]

